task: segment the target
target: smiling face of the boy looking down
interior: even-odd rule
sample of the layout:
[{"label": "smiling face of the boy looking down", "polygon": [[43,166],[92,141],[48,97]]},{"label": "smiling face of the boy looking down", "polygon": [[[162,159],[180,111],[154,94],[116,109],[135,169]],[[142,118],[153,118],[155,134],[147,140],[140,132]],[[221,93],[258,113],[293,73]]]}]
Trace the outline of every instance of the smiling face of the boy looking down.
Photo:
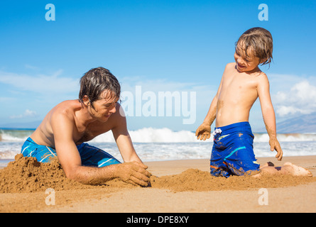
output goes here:
[{"label": "smiling face of the boy looking down", "polygon": [[241,44],[237,44],[234,58],[236,62],[236,69],[239,72],[251,72],[258,69],[260,60],[258,57],[254,56],[253,50],[249,48],[247,50],[247,55],[244,55],[244,50]]}]

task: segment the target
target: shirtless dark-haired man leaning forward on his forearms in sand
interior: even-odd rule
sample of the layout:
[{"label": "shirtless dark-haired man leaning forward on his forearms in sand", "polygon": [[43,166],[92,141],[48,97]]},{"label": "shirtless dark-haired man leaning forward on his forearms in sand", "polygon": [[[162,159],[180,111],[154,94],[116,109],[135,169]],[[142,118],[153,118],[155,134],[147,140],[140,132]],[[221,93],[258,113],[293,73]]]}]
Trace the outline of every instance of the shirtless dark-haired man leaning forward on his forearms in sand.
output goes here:
[{"label": "shirtless dark-haired man leaning forward on his forearms in sand", "polygon": [[[120,84],[109,70],[89,70],[80,79],[79,99],[55,106],[23,144],[21,153],[38,162],[58,156],[65,175],[83,184],[119,178],[148,186],[151,174],[134,150],[124,111],[117,103],[120,93]],[[110,130],[124,163],[85,143]]]}]

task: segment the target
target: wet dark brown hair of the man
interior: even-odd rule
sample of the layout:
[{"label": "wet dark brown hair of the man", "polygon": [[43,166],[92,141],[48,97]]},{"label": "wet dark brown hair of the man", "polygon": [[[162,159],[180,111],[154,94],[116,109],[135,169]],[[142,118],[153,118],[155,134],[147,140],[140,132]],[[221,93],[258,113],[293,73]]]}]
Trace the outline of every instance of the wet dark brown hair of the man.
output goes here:
[{"label": "wet dark brown hair of the man", "polygon": [[[119,99],[121,94],[121,86],[119,81],[114,77],[109,70],[104,67],[97,67],[86,72],[80,79],[79,101],[84,102],[84,99],[89,99],[89,104],[94,101],[103,99],[104,91],[107,91],[109,99]],[[86,97],[85,97],[86,96]]]}]

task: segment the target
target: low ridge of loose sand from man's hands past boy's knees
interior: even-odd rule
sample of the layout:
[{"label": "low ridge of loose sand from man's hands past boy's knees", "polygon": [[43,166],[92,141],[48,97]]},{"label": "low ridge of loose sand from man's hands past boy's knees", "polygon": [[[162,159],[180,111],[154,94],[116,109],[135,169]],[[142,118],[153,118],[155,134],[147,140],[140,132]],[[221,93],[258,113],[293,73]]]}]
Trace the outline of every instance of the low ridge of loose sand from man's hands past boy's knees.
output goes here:
[{"label": "low ridge of loose sand from man's hands past boy's knees", "polygon": [[316,182],[316,177],[263,175],[261,178],[238,176],[225,178],[213,177],[209,172],[193,169],[185,170],[180,175],[151,177],[151,187],[171,189],[174,192],[288,187],[308,182]]}]

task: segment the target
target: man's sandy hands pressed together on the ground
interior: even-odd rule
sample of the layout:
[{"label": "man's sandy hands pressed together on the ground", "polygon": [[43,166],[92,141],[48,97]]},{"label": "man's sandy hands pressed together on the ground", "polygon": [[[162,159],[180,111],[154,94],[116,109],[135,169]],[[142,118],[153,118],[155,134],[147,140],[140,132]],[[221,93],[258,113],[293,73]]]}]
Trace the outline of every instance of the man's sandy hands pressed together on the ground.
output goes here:
[{"label": "man's sandy hands pressed together on the ground", "polygon": [[124,162],[118,165],[116,175],[124,182],[147,187],[149,177],[151,177],[151,173],[146,170],[147,168],[148,166],[139,162]]}]

